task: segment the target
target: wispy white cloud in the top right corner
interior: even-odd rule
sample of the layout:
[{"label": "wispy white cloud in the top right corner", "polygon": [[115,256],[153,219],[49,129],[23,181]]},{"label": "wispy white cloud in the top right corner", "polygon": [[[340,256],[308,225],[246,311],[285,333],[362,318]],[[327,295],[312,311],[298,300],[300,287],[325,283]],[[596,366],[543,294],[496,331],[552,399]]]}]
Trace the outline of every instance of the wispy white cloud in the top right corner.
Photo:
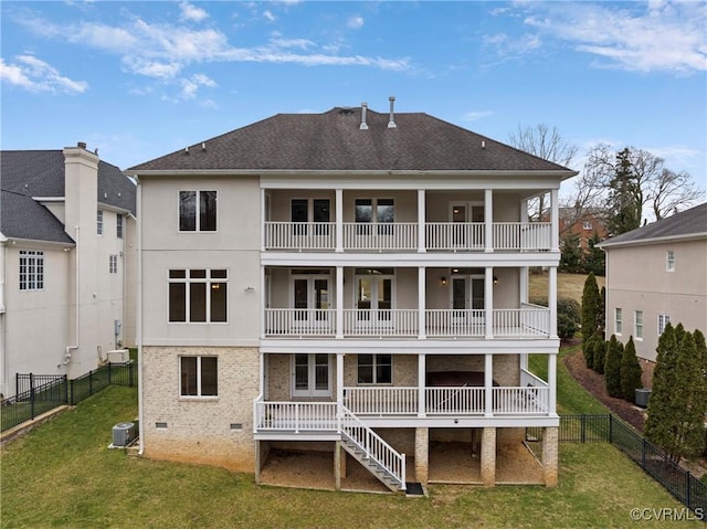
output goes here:
[{"label": "wispy white cloud in the top right corner", "polygon": [[595,55],[595,66],[637,72],[707,70],[704,2],[529,3],[525,23]]}]

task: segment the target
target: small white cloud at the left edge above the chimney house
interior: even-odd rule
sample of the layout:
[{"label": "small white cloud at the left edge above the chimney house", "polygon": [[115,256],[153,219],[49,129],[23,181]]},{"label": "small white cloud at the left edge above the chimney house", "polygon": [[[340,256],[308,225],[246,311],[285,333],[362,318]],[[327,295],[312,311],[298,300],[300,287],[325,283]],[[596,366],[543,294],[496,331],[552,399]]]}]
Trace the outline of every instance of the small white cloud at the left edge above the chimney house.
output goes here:
[{"label": "small white cloud at the left edge above the chimney house", "polygon": [[19,64],[6,64],[0,59],[2,81],[32,92],[83,94],[88,89],[85,81],[74,81],[61,75],[54,66],[34,55],[18,55],[15,60]]}]

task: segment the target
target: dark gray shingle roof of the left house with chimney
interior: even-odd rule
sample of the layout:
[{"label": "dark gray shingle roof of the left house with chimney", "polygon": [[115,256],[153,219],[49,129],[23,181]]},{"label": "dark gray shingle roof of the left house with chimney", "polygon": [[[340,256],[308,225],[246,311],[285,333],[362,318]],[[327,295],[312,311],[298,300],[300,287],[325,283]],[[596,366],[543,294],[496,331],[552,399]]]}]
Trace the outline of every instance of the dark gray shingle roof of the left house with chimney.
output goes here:
[{"label": "dark gray shingle roof of the left house with chimney", "polygon": [[[32,197],[64,197],[61,150],[0,152],[0,233],[7,237],[72,243],[64,225]],[[135,186],[115,166],[98,162],[98,202],[135,213]]]}]

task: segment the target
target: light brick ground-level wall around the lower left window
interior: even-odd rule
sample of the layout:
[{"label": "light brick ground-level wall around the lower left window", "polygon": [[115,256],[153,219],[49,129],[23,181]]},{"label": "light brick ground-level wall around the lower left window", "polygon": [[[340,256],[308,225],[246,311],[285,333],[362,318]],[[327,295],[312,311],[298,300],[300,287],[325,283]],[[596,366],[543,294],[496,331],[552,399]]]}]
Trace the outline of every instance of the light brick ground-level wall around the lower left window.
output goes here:
[{"label": "light brick ground-level wall around the lower left window", "polygon": [[[179,394],[179,357],[198,355],[219,359],[217,398]],[[255,470],[256,348],[144,347],[143,384],[147,457]]]}]

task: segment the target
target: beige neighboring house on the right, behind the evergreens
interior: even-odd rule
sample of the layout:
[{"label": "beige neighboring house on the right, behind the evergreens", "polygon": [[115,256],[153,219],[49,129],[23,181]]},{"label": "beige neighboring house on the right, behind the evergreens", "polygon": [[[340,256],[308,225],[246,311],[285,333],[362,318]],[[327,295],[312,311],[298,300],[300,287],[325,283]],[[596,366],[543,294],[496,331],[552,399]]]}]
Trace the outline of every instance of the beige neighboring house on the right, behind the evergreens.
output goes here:
[{"label": "beige neighboring house on the right, behind the evergreens", "polygon": [[665,325],[707,331],[707,203],[599,245],[606,252],[606,335],[633,336],[650,387]]}]

